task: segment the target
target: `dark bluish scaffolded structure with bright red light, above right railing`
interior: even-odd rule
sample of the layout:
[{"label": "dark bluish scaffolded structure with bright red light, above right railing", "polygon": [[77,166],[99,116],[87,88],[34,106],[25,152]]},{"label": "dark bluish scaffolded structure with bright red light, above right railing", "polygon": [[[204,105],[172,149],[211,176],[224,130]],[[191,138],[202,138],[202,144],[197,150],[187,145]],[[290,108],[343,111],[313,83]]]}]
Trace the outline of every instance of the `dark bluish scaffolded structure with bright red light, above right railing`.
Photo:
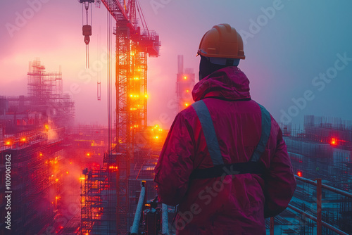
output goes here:
[{"label": "dark bluish scaffolded structure with bright red light, above right railing", "polygon": [[309,179],[322,177],[327,184],[348,190],[352,184],[352,122],[313,115],[304,120],[301,132],[283,127],[294,171]]}]

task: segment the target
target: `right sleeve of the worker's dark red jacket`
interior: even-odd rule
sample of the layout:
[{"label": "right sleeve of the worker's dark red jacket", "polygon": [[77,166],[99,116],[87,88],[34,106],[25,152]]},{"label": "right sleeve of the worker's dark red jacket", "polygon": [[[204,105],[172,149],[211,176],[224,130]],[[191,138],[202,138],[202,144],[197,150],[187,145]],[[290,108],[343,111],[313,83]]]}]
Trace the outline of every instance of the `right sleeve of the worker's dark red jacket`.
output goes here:
[{"label": "right sleeve of the worker's dark red jacket", "polygon": [[296,179],[282,131],[276,122],[273,124],[278,129],[277,146],[275,155],[270,160],[269,170],[265,174],[265,218],[274,217],[284,211],[296,189]]}]

